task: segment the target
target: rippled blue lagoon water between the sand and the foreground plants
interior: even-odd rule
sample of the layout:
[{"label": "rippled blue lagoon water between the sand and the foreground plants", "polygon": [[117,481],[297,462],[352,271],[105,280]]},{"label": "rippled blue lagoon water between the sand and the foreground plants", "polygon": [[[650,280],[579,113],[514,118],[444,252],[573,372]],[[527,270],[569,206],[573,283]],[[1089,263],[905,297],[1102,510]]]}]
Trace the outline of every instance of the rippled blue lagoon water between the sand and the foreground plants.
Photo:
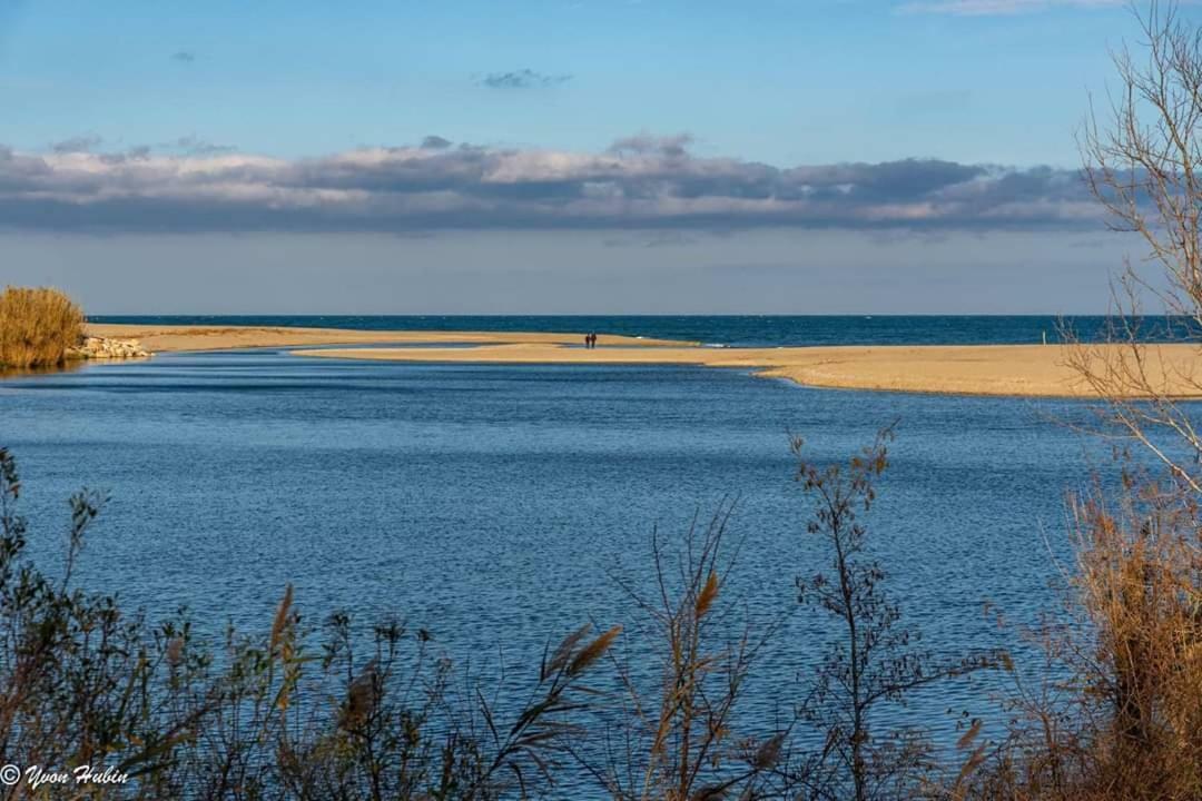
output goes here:
[{"label": "rippled blue lagoon water between the sand and the foreground plants", "polygon": [[[600,330],[605,330],[599,327]],[[737,498],[731,600],[789,615],[751,709],[769,717],[828,628],[795,579],[825,567],[805,533],[789,434],[844,459],[898,420],[869,518],[905,621],[932,650],[1013,640],[1055,603],[1064,494],[1097,448],[1081,404],[817,390],[703,367],[487,366],[162,354],[0,382],[0,443],[19,460],[32,550],[53,562],[65,498],[111,496],[81,580],[151,617],[180,605],[210,634],[270,624],[292,582],[310,620],[397,614],[459,662],[520,663],[582,622],[638,616],[615,586],[649,543]],[[1096,460],[1096,461],[1095,461]],[[733,540],[732,540],[733,542]],[[639,659],[638,646],[633,658]],[[910,712],[990,713],[980,688]]]}]

